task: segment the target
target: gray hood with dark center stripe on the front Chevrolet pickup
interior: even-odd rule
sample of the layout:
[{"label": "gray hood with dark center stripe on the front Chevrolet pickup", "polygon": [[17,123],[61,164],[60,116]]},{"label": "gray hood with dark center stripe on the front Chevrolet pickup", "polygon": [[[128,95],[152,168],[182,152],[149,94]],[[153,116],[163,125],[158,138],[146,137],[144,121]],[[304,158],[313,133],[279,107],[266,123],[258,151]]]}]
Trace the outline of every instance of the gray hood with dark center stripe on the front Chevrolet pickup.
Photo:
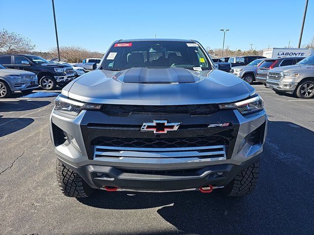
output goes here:
[{"label": "gray hood with dark center stripe on the front Chevrolet pickup", "polygon": [[62,90],[62,94],[83,102],[137,105],[226,103],[245,99],[254,92],[233,74],[183,68],[95,70]]}]

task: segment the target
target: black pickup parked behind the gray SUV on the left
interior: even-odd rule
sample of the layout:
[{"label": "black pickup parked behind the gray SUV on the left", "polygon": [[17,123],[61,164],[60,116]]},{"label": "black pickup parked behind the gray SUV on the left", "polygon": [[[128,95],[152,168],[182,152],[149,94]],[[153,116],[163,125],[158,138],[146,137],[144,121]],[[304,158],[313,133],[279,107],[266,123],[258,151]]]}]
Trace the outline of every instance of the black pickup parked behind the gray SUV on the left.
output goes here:
[{"label": "black pickup parked behind the gray SUV on the left", "polygon": [[38,84],[44,90],[53,90],[57,85],[64,87],[76,77],[73,67],[50,63],[37,55],[0,55],[0,64],[9,69],[36,73]]}]

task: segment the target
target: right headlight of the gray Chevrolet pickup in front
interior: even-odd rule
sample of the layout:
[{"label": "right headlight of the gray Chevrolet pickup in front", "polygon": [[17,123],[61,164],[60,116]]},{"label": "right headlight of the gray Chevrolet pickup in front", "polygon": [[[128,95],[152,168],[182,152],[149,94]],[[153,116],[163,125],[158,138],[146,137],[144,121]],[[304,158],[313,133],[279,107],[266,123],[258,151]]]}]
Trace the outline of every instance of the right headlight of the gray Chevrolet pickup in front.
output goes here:
[{"label": "right headlight of the gray Chevrolet pickup in front", "polygon": [[264,108],[261,96],[255,96],[235,103],[219,104],[220,109],[237,109],[241,114],[248,114]]}]

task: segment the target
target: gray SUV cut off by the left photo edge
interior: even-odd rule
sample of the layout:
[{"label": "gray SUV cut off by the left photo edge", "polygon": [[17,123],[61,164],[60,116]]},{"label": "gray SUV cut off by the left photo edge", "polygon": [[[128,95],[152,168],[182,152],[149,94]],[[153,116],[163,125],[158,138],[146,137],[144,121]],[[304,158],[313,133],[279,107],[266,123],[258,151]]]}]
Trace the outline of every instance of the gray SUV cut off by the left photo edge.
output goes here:
[{"label": "gray SUV cut off by the left photo edge", "polygon": [[0,98],[8,98],[16,91],[30,94],[37,87],[35,73],[6,69],[0,65]]}]

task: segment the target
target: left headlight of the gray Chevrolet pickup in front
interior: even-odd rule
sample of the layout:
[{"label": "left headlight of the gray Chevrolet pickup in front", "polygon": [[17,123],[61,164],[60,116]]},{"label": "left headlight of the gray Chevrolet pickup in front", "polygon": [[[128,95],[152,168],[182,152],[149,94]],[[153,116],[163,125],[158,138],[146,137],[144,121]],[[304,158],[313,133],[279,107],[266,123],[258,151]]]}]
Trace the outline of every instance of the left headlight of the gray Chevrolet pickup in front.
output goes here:
[{"label": "left headlight of the gray Chevrolet pickup in front", "polygon": [[66,96],[60,94],[54,100],[54,110],[59,112],[78,116],[79,112],[83,109],[95,110],[101,109],[101,104],[83,103],[76,100],[68,99]]}]

